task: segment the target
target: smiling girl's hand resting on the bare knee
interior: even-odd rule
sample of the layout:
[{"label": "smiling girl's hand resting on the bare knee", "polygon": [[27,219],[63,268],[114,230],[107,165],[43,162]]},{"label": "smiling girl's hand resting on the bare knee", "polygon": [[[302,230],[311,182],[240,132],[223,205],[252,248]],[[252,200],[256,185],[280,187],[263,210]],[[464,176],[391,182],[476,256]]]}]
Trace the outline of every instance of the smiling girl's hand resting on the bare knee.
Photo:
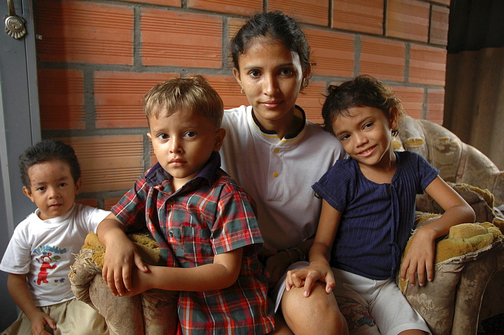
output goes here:
[{"label": "smiling girl's hand resting on the bare knee", "polygon": [[331,293],[336,286],[334,275],[330,267],[310,264],[304,269],[287,271],[285,288],[287,291],[290,291],[293,286],[304,286],[304,296],[308,297],[313,285],[319,280],[326,283],[326,292],[328,294]]}]

